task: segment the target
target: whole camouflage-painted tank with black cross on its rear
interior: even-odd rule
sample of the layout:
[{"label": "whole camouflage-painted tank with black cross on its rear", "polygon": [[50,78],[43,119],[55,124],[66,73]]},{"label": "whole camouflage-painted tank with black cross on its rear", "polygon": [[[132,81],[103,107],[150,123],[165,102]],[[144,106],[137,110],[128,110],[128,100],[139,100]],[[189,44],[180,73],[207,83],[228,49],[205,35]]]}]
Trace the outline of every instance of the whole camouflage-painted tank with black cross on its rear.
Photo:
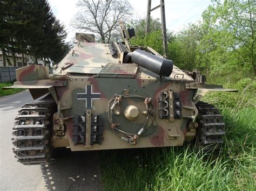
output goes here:
[{"label": "whole camouflage-painted tank with black cross on its rear", "polygon": [[12,135],[24,165],[46,164],[54,148],[71,151],[183,146],[211,150],[223,143],[219,110],[201,102],[208,91],[235,91],[205,83],[199,72],[179,69],[150,47],[132,46],[133,29],[119,21],[122,41],[78,43],[49,68],[16,70],[7,88],[29,89],[35,101],[18,111]]}]

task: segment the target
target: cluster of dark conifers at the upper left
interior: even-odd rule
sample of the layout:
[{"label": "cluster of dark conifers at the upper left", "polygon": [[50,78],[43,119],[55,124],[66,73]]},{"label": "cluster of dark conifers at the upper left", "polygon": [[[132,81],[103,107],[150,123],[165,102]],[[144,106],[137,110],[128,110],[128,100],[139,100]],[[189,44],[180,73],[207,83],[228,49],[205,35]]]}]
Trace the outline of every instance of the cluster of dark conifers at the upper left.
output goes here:
[{"label": "cluster of dark conifers at the upper left", "polygon": [[[0,48],[3,56],[30,54],[37,59],[59,62],[69,51],[64,25],[53,15],[47,0],[0,1]],[[5,59],[3,59],[4,65]]]}]

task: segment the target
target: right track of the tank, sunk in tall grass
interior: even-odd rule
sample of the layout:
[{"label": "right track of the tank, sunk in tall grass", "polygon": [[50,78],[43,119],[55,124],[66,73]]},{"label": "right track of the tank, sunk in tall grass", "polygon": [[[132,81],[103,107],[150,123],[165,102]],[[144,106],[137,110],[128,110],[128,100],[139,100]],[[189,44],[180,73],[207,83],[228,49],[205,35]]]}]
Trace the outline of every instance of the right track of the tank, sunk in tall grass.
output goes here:
[{"label": "right track of the tank, sunk in tall grass", "polygon": [[225,123],[219,110],[212,104],[198,102],[198,135],[197,146],[203,150],[220,148],[224,142]]}]

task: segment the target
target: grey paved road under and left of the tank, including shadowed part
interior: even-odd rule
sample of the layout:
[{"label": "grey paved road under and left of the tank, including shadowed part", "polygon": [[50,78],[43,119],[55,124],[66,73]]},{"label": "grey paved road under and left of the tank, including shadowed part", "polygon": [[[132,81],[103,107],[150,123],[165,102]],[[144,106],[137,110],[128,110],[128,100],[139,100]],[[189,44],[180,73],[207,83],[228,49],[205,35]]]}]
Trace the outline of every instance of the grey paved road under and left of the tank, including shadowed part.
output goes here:
[{"label": "grey paved road under and left of the tank, including shadowed part", "polygon": [[28,90],[0,97],[0,190],[100,190],[99,151],[58,152],[50,165],[24,166],[12,152],[17,110],[32,101]]}]

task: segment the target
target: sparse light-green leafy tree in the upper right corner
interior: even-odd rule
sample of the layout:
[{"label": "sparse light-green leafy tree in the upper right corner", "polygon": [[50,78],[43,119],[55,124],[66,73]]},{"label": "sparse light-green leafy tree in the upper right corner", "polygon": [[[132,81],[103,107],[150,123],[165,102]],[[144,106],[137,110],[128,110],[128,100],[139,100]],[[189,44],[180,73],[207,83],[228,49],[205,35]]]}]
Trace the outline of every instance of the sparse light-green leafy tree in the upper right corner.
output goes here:
[{"label": "sparse light-green leafy tree in the upper right corner", "polygon": [[203,13],[204,22],[208,26],[219,25],[233,34],[237,39],[234,49],[245,47],[247,61],[244,61],[251,64],[254,75],[256,74],[255,13],[256,3],[253,0],[225,0],[224,3],[218,0]]}]

